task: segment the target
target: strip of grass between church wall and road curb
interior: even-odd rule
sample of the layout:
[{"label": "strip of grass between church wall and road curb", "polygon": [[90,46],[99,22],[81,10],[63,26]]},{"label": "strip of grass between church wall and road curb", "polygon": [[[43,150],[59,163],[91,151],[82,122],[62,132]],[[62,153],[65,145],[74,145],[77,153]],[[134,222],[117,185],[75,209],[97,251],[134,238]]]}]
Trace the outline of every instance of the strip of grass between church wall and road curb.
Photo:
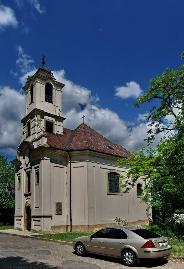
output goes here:
[{"label": "strip of grass between church wall and road curb", "polygon": [[72,242],[77,237],[91,235],[92,233],[93,232],[64,232],[64,233],[51,233],[51,234],[34,235],[34,236],[47,238],[47,239]]}]

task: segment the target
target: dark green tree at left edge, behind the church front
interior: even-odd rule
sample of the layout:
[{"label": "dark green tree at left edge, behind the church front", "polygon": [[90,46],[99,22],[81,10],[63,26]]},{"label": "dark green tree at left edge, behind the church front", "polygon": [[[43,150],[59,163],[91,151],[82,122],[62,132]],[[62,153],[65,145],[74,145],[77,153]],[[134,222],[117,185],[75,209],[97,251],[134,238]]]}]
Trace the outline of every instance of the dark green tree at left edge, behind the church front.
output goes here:
[{"label": "dark green tree at left edge, behind the church front", "polygon": [[0,222],[13,221],[15,208],[15,167],[0,154]]}]

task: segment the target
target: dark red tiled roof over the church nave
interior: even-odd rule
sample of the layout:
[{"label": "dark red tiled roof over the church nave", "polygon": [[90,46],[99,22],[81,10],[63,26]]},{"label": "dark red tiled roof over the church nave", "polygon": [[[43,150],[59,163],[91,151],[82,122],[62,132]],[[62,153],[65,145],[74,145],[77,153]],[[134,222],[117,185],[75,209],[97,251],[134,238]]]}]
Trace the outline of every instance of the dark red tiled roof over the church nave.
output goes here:
[{"label": "dark red tiled roof over the church nave", "polygon": [[91,127],[82,123],[74,131],[63,128],[63,135],[47,133],[50,147],[61,150],[92,150],[101,153],[128,158],[132,154],[121,145],[112,143]]}]

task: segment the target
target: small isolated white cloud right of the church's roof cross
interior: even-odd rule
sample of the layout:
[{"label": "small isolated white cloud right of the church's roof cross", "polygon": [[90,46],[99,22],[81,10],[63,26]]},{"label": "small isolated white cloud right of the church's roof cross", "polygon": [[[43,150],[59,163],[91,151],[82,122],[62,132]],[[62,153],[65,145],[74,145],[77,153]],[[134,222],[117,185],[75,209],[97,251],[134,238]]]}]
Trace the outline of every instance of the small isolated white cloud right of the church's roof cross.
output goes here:
[{"label": "small isolated white cloud right of the church's roof cross", "polygon": [[143,94],[143,90],[140,89],[138,83],[130,81],[126,83],[126,86],[115,87],[115,96],[122,99],[127,99],[129,97],[137,98],[139,95]]}]

